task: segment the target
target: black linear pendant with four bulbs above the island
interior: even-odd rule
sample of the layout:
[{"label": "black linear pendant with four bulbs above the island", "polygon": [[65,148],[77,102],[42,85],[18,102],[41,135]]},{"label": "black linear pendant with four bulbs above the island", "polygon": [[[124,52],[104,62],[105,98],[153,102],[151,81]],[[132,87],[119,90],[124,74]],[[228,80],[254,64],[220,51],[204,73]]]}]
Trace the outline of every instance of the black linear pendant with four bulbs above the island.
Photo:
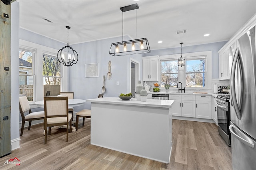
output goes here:
[{"label": "black linear pendant with four bulbs above the island", "polygon": [[[149,53],[150,47],[146,38],[137,39],[137,9],[138,4],[121,7],[122,11],[122,42],[112,43],[110,46],[109,54],[113,56],[131,55],[140,53]],[[136,37],[135,40],[124,41],[124,12],[136,10]]]}]

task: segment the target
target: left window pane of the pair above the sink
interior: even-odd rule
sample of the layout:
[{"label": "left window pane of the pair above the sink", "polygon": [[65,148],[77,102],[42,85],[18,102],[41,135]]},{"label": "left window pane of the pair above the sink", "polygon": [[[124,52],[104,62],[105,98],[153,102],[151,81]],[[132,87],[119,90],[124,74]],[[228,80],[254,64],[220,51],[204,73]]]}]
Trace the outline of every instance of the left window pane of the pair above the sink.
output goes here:
[{"label": "left window pane of the pair above the sink", "polygon": [[178,83],[178,61],[161,61],[161,77],[161,87],[165,87],[165,84],[169,84],[170,87],[176,85]]}]

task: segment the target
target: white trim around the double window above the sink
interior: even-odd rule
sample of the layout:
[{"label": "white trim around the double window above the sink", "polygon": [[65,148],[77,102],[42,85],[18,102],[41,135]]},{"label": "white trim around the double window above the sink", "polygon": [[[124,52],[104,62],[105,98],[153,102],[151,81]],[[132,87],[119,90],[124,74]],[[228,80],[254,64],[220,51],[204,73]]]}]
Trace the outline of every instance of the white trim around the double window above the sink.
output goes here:
[{"label": "white trim around the double window above the sink", "polygon": [[[182,53],[182,58],[186,59],[198,59],[200,56],[206,56],[205,57],[205,63],[206,63],[206,87],[186,87],[186,89],[190,90],[204,90],[204,89],[212,89],[212,51],[201,51],[201,52],[194,52],[194,53]],[[169,59],[179,59],[180,58],[180,53],[179,54],[172,54],[172,55],[160,55],[160,61],[163,60],[169,60]],[[186,67],[178,67],[178,75],[183,75],[184,76],[178,76],[178,82],[181,82],[182,85],[186,84],[186,78],[185,78],[185,70]],[[160,76],[159,76],[159,82],[161,82],[161,70],[160,70]],[[176,87],[170,87],[171,89]]]}]

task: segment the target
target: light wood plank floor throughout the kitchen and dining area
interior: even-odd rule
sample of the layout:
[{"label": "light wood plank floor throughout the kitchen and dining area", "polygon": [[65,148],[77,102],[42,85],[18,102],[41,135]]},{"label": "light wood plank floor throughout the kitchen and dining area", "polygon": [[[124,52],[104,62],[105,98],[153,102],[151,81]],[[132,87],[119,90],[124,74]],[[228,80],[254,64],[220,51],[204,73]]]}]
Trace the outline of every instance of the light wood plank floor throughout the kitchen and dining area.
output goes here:
[{"label": "light wood plank floor throughout the kitchen and dining area", "polygon": [[[82,119],[81,119],[82,120]],[[43,126],[24,129],[20,148],[0,158],[0,169],[27,170],[232,170],[231,148],[213,123],[173,120],[173,145],[169,164],[124,154],[90,144],[90,119],[78,131],[52,128],[44,145]],[[5,164],[18,158],[20,166]]]}]

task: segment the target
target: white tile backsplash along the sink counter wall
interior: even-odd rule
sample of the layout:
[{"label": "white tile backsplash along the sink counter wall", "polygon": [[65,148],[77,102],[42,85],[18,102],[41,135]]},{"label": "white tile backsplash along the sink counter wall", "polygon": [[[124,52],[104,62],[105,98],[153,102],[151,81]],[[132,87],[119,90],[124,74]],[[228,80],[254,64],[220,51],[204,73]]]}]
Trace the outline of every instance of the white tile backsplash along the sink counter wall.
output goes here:
[{"label": "white tile backsplash along the sink counter wall", "polygon": [[[143,81],[143,85],[144,85],[145,81]],[[154,88],[154,83],[158,83],[158,81],[146,81],[146,83],[148,85],[150,85],[150,92],[153,92],[153,88]],[[208,93],[213,93],[214,92],[214,83],[216,83],[218,86],[228,86],[229,85],[229,80],[219,80],[219,79],[212,79],[212,89],[204,89],[204,90],[196,90],[196,89],[186,89],[186,92],[191,92],[193,93],[194,91],[204,91],[204,92],[208,92]],[[165,92],[164,87],[162,87],[162,91]],[[170,88],[171,92],[176,92],[176,88]],[[160,91],[161,92],[161,91]]]}]

